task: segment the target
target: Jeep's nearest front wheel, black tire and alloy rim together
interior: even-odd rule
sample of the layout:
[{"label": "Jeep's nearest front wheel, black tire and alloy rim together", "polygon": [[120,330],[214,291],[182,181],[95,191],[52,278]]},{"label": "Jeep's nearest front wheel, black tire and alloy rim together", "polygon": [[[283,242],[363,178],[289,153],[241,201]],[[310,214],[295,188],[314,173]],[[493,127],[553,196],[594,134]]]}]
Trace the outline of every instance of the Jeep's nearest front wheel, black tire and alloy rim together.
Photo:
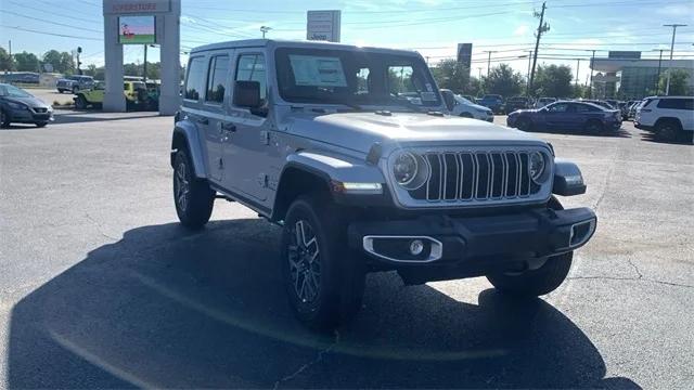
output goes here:
[{"label": "Jeep's nearest front wheel, black tire and alloy rim together", "polygon": [[345,221],[343,211],[323,194],[299,196],[284,219],[280,258],[284,286],[294,315],[312,329],[333,329],[361,308],[363,260],[350,256]]}]

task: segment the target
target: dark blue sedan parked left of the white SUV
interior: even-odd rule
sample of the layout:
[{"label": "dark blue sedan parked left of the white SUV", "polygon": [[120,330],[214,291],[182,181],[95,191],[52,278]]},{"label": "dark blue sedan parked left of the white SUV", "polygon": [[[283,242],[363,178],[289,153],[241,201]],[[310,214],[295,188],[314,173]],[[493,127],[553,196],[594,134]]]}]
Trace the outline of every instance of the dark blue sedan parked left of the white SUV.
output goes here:
[{"label": "dark blue sedan parked left of the white SUV", "polygon": [[590,133],[616,131],[621,127],[617,109],[586,102],[555,102],[539,109],[520,109],[506,118],[509,127],[530,130],[582,130]]}]

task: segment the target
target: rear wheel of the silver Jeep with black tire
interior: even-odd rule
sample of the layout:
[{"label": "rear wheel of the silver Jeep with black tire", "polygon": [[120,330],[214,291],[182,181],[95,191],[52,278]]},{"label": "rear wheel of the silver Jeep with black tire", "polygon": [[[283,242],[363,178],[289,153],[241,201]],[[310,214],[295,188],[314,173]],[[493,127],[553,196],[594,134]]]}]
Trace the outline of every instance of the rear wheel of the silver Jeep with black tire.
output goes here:
[{"label": "rear wheel of the silver Jeep with black tire", "polygon": [[174,159],[174,204],[179,221],[191,230],[209,221],[215,204],[215,191],[206,180],[195,178],[185,150],[178,151]]}]

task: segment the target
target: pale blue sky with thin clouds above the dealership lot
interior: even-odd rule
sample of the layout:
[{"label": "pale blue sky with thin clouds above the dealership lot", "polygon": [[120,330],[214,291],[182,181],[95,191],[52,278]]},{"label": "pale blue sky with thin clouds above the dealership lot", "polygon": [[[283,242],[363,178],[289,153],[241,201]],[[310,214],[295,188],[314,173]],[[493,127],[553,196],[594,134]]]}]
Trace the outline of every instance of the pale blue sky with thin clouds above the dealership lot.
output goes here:
[{"label": "pale blue sky with thin clouds above the dealership lot", "polygon": [[[416,50],[430,64],[454,57],[459,42],[473,43],[472,74],[507,63],[524,76],[541,1],[532,0],[182,0],[181,62],[196,46],[259,38],[305,39],[307,10],[342,10],[342,42]],[[83,66],[103,65],[100,0],[0,0],[0,47],[43,53],[82,48]],[[679,27],[674,57],[694,58],[694,0],[548,0],[538,64],[569,65],[586,82],[589,50],[639,50],[657,58]],[[52,35],[51,35],[52,34]],[[491,54],[488,51],[492,51]],[[125,46],[125,62],[142,62],[141,46]],[[664,53],[668,56],[668,52]],[[580,62],[578,61],[580,58]],[[150,61],[158,50],[150,49]]]}]

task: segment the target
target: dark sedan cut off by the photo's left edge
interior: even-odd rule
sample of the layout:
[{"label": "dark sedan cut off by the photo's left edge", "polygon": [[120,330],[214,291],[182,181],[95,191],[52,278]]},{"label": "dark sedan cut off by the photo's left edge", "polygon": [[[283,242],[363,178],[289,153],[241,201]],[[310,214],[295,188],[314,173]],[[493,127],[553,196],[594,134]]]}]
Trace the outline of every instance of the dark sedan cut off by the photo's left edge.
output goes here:
[{"label": "dark sedan cut off by the photo's left edge", "polygon": [[53,107],[23,89],[0,83],[0,126],[34,123],[43,127],[53,120]]}]

